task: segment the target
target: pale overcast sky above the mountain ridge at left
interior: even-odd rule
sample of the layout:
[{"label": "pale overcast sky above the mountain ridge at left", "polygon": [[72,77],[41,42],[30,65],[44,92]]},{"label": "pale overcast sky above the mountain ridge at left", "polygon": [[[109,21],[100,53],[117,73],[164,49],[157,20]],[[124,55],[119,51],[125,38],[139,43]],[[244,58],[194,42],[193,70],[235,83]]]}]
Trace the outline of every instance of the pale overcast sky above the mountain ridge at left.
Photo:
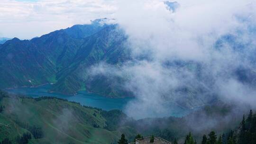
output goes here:
[{"label": "pale overcast sky above the mountain ridge at left", "polygon": [[0,0],[0,37],[30,39],[51,31],[112,18],[114,0]]}]

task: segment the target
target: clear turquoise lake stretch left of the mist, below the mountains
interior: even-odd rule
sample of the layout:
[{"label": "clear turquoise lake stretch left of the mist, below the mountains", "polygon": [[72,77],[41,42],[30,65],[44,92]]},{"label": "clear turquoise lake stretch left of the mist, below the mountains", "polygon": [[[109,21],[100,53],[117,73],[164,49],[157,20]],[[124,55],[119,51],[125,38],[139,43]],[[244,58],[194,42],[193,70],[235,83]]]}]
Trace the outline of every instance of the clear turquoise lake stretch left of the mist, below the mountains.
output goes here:
[{"label": "clear turquoise lake stretch left of the mist, below the mountains", "polygon": [[89,93],[87,91],[79,91],[75,96],[64,95],[60,93],[49,93],[51,85],[46,84],[38,87],[22,87],[8,89],[9,93],[22,94],[27,97],[38,98],[42,96],[67,99],[68,101],[79,102],[81,105],[101,108],[104,110],[120,109],[123,110],[128,101],[133,98],[108,98],[101,95]]}]

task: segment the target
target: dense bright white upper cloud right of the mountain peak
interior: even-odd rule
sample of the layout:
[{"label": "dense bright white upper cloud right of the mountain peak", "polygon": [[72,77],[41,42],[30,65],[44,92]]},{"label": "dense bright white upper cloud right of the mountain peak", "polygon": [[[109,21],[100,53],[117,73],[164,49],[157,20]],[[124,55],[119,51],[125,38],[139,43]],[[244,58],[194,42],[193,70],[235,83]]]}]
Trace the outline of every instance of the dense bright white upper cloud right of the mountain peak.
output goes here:
[{"label": "dense bright white upper cloud right of the mountain peak", "polygon": [[249,16],[247,4],[252,0],[177,1],[181,7],[175,13],[159,0],[124,0],[119,4],[115,17],[137,52],[153,50],[164,60],[204,60],[208,56],[205,49],[219,36],[242,25],[235,16]]}]

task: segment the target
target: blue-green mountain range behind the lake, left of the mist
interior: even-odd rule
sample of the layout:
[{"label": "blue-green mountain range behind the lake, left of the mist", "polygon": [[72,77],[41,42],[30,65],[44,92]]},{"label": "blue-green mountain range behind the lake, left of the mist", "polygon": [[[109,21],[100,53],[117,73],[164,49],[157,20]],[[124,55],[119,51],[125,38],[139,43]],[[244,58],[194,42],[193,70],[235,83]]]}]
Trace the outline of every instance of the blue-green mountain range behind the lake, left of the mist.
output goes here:
[{"label": "blue-green mountain range behind the lake, left of the mist", "polygon": [[68,95],[82,89],[112,97],[124,93],[115,92],[108,82],[88,83],[85,71],[83,78],[79,76],[81,70],[95,63],[117,64],[128,59],[123,46],[126,37],[117,25],[107,25],[104,20],[107,19],[74,25],[31,40],[13,38],[0,45],[0,88],[54,83],[51,91]]}]

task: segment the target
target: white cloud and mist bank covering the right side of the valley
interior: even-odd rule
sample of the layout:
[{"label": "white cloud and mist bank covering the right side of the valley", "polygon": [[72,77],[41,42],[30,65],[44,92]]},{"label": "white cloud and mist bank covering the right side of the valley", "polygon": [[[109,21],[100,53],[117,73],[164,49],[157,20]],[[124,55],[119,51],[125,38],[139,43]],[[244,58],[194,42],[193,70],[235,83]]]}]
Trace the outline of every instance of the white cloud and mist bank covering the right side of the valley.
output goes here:
[{"label": "white cloud and mist bank covering the right side of the valley", "polygon": [[255,108],[254,0],[122,0],[118,6],[114,16],[131,60],[99,63],[90,73],[124,81],[136,97],[128,116],[165,117],[216,99]]}]

